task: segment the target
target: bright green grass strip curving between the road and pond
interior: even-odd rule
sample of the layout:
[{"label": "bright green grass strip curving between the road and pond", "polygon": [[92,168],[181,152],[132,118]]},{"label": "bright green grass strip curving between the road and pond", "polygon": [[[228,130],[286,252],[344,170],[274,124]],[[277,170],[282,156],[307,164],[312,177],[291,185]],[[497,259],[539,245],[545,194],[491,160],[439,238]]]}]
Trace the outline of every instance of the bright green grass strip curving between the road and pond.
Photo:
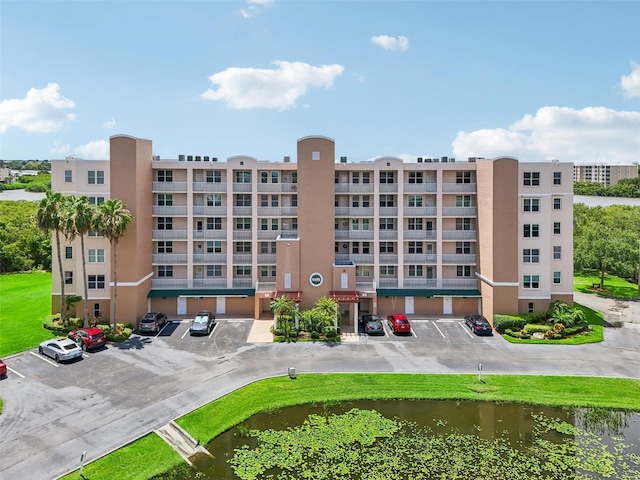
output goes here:
[{"label": "bright green grass strip curving between the road and pond", "polygon": [[[640,381],[527,375],[485,375],[479,380],[477,375],[304,374],[295,380],[275,377],[252,383],[194,410],[177,423],[206,444],[255,413],[304,403],[361,399],[460,399],[640,411]],[[164,443],[155,434],[149,436]],[[147,437],[87,465],[84,478],[146,480],[180,464],[167,452],[168,446],[158,443],[149,448]],[[76,471],[63,478],[80,476]]]}]

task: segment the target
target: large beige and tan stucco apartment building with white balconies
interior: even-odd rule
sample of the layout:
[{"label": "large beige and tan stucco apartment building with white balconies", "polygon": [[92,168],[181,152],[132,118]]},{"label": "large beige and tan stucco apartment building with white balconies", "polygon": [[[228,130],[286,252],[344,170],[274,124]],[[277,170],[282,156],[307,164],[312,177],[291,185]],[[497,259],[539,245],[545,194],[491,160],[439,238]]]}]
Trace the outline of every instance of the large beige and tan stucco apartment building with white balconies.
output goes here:
[{"label": "large beige and tan stucco apartment building with white balconies", "polygon": [[[491,318],[572,302],[570,163],[350,162],[322,136],[281,161],[167,160],[150,140],[110,142],[110,160],[52,161],[52,183],[118,198],[135,218],[118,246],[119,321],[201,309],[268,318],[281,295],[302,309],[336,299],[345,328],[363,313]],[[79,248],[65,245],[63,269],[65,293],[82,296]],[[90,312],[109,317],[109,243],[92,232],[85,248]]]}]

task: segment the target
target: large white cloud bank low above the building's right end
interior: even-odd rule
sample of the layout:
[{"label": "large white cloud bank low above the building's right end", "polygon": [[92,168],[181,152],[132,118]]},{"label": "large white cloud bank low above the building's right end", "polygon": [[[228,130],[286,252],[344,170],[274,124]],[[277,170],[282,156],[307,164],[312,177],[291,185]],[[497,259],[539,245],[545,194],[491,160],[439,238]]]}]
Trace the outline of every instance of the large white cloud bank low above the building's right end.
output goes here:
[{"label": "large white cloud bank low above the building's right end", "polygon": [[507,128],[458,132],[456,157],[630,163],[640,160],[640,112],[605,107],[543,107]]}]

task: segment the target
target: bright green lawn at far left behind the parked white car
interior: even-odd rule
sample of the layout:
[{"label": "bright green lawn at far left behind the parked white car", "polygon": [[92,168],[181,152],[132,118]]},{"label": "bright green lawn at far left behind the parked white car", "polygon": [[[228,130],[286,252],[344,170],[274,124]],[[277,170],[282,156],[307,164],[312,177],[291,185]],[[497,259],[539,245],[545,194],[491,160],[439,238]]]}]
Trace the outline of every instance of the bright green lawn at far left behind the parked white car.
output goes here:
[{"label": "bright green lawn at far left behind the parked white car", "polygon": [[53,334],[42,328],[51,313],[51,273],[0,275],[0,356],[37,346]]}]

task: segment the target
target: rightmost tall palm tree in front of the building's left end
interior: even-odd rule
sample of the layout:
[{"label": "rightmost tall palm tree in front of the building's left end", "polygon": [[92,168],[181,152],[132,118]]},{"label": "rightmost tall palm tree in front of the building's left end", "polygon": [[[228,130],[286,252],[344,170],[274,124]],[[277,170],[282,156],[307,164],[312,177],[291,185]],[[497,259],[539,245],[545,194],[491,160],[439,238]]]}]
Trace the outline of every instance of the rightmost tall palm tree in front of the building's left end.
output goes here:
[{"label": "rightmost tall palm tree in front of the building's left end", "polygon": [[122,201],[112,198],[98,206],[95,226],[111,243],[113,258],[113,329],[118,327],[117,298],[118,298],[118,242],[133,223],[133,215]]}]

